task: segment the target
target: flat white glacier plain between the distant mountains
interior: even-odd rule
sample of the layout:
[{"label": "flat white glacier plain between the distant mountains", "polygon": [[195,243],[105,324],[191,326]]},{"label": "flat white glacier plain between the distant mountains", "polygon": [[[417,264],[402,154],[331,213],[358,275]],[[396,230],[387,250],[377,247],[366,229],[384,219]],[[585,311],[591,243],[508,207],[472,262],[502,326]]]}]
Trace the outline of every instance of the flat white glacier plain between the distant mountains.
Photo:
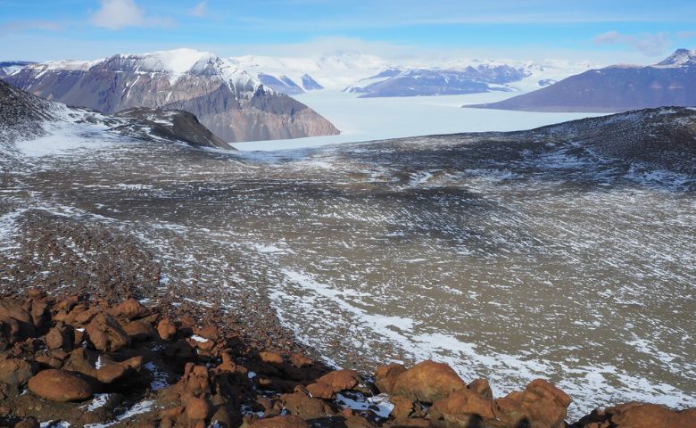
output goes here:
[{"label": "flat white glacier plain between the distant mountains", "polygon": [[597,116],[592,113],[538,113],[460,108],[468,104],[494,103],[513,95],[518,93],[359,98],[358,94],[345,92],[309,92],[295,95],[294,98],[336,125],[341,131],[340,135],[233,145],[236,149],[244,151],[283,150],[405,136],[517,131]]}]

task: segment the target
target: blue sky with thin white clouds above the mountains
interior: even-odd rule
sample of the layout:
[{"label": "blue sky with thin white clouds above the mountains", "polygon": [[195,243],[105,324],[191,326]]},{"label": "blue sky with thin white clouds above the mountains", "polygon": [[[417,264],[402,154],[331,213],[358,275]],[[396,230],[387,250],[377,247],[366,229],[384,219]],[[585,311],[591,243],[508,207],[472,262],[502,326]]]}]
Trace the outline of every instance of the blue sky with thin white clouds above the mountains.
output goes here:
[{"label": "blue sky with thin white clouds above the mountains", "polygon": [[0,11],[0,60],[186,46],[220,55],[651,63],[696,48],[693,0],[0,0]]}]

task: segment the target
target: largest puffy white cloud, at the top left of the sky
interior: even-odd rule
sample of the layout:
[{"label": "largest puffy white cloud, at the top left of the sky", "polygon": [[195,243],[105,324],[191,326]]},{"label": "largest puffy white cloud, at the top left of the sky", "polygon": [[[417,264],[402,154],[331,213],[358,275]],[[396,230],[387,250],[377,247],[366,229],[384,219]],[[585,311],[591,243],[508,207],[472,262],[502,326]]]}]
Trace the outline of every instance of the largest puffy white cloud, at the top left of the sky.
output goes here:
[{"label": "largest puffy white cloud, at the top left of the sky", "polygon": [[135,0],[102,0],[101,7],[92,14],[90,21],[104,29],[126,27],[169,27],[170,19],[149,15]]}]

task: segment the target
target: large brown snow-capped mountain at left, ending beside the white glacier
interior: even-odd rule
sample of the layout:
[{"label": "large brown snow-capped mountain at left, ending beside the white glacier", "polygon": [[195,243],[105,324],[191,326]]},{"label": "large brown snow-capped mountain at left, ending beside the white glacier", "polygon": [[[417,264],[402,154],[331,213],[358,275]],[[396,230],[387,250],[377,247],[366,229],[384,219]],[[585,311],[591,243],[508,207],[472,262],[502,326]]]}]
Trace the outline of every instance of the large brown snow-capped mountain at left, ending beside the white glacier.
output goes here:
[{"label": "large brown snow-capped mountain at left, ending beside the white glacier", "polygon": [[236,63],[192,49],[29,64],[4,80],[49,100],[105,113],[133,107],[190,111],[228,142],[338,133],[327,119]]}]

